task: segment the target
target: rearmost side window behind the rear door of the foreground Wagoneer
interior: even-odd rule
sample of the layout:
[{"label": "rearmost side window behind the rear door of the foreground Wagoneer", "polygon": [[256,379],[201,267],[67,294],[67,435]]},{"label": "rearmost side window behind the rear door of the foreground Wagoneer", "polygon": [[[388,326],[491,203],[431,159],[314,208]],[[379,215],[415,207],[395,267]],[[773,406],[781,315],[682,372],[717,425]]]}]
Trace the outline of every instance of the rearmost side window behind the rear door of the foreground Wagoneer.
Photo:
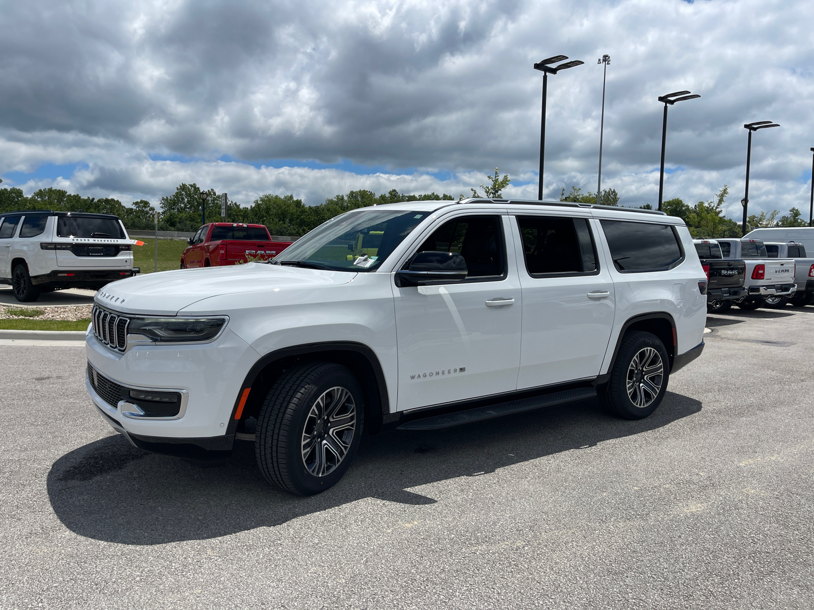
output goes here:
[{"label": "rearmost side window behind the rear door of the foreground Wagoneer", "polygon": [[669,224],[602,220],[602,230],[620,272],[666,271],[684,259]]}]

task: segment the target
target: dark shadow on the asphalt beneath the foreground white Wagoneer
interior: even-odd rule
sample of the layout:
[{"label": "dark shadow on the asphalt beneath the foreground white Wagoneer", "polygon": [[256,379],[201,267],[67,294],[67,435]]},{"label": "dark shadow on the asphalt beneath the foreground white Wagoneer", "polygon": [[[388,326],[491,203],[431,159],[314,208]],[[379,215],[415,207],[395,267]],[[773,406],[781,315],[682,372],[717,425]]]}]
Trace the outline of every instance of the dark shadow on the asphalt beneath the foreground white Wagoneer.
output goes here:
[{"label": "dark shadow on the asphalt beneath the foreground white Wagoneer", "polygon": [[701,408],[697,400],[667,392],[644,420],[619,420],[587,399],[453,429],[365,437],[342,481],[309,498],[270,486],[256,468],[251,442],[238,442],[228,465],[199,468],[139,451],[116,434],[59,458],[47,489],[59,520],[87,538],[134,545],[201,540],[370,497],[435,503],[409,489],[640,434]]}]

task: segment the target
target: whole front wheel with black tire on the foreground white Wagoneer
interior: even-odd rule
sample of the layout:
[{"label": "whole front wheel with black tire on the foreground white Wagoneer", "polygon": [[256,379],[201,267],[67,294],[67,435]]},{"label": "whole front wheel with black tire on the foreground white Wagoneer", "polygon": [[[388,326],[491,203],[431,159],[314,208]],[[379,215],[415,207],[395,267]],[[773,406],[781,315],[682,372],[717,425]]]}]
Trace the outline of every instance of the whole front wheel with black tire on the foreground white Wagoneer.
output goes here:
[{"label": "whole front wheel with black tire on the foreground white Wagoneer", "polygon": [[[344,416],[335,416],[336,410],[334,415],[325,416],[324,410],[321,415],[323,397],[336,399]],[[334,486],[359,447],[364,413],[361,386],[348,368],[330,362],[291,368],[274,381],[260,407],[255,441],[260,472],[296,495],[318,494]],[[331,422],[343,422],[340,435],[329,429]],[[309,430],[312,434],[306,438]],[[344,454],[339,456],[339,451]]]}]

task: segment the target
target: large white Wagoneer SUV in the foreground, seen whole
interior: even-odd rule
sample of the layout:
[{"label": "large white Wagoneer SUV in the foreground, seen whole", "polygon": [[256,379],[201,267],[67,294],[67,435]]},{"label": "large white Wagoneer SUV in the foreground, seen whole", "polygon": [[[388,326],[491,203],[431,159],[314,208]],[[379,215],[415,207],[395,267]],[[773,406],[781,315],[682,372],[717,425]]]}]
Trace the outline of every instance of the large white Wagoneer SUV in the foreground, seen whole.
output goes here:
[{"label": "large white Wagoneer SUV in the foreground, seen whole", "polygon": [[679,218],[499,199],[365,207],[272,264],[153,273],[96,296],[86,386],[136,447],[255,443],[295,494],[361,437],[598,395],[650,415],[703,349],[707,277]]}]

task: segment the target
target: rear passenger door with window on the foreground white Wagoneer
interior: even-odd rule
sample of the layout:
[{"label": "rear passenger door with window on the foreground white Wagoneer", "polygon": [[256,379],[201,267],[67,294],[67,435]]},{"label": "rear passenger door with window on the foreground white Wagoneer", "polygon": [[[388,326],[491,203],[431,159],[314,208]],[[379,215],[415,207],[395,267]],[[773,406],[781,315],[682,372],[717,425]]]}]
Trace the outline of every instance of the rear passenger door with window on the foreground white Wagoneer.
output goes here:
[{"label": "rear passenger door with window on the foreground white Wagoneer", "polygon": [[[523,285],[518,389],[596,377],[615,315],[610,272],[588,216],[513,217]],[[593,229],[593,230],[592,230]]]}]

